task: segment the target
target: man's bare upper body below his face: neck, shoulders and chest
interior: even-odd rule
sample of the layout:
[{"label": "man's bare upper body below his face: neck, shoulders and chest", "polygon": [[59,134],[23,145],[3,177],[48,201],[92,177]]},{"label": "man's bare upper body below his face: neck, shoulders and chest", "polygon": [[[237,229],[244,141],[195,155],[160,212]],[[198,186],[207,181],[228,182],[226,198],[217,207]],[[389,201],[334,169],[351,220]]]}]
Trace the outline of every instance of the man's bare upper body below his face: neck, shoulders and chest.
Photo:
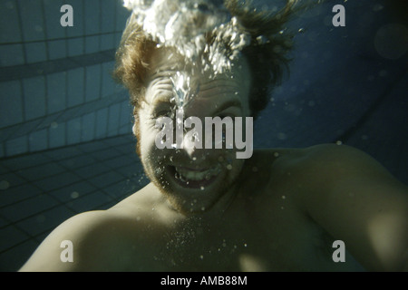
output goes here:
[{"label": "man's bare upper body below his face: neck, shoulders and chest", "polygon": [[[336,239],[367,270],[406,266],[407,189],[364,153],[336,145],[256,151],[241,180],[233,199],[220,201],[225,210],[190,216],[150,184],[63,223],[21,270],[361,270],[351,256],[332,260]],[[65,239],[73,263],[60,260]]]}]

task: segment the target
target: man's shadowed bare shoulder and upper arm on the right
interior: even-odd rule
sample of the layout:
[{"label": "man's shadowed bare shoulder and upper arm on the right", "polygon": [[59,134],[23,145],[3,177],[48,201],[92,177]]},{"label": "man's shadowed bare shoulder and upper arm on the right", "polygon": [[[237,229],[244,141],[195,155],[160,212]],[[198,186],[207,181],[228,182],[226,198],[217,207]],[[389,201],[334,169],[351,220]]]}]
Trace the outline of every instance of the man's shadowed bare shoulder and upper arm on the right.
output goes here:
[{"label": "man's shadowed bare shoulder and upper arm on the right", "polygon": [[345,145],[297,150],[284,162],[294,172],[299,208],[367,269],[408,265],[408,188],[373,157]]}]

